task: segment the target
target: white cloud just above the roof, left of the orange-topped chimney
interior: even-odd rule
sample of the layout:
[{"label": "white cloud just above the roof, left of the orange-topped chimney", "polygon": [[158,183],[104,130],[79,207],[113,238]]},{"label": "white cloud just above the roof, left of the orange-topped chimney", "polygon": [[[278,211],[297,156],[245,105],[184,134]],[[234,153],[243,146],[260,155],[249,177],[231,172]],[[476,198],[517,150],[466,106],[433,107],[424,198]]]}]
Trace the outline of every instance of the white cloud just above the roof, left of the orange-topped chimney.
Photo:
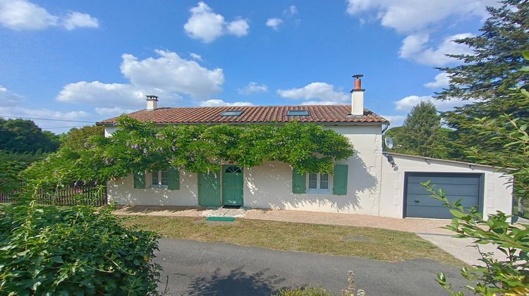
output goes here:
[{"label": "white cloud just above the roof, left of the orange-topped chimney", "polygon": [[312,82],[300,88],[277,90],[277,93],[288,99],[311,100],[305,102],[310,104],[343,104],[349,99],[348,94],[334,90],[334,85],[325,82]]}]

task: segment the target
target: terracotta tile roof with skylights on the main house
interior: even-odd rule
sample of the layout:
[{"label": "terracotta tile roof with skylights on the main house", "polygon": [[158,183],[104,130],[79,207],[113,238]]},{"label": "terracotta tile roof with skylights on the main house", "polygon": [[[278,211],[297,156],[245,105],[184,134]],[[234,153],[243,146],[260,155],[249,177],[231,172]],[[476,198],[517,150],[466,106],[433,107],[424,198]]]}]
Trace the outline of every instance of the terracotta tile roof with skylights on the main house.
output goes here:
[{"label": "terracotta tile roof with skylights on the main house", "polygon": [[[240,116],[221,116],[224,111],[241,110]],[[307,110],[309,116],[287,116],[289,110]],[[388,123],[367,109],[363,116],[351,116],[350,105],[307,106],[221,106],[221,107],[174,107],[152,111],[140,110],[127,114],[140,121],[155,123]],[[99,121],[98,125],[112,124],[116,118]]]}]

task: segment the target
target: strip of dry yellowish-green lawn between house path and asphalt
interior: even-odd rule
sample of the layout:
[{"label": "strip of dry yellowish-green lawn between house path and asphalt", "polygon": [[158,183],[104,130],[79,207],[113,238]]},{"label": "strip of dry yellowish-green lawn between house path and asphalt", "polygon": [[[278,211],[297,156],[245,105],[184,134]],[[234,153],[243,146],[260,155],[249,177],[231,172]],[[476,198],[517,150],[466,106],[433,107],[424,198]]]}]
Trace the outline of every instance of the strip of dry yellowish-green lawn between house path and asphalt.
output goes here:
[{"label": "strip of dry yellowish-green lawn between house path and asphalt", "polygon": [[458,259],[414,233],[379,228],[259,221],[211,222],[196,217],[123,216],[127,226],[152,230],[167,238],[228,242],[284,251],[363,257],[379,261],[427,258],[456,266]]}]

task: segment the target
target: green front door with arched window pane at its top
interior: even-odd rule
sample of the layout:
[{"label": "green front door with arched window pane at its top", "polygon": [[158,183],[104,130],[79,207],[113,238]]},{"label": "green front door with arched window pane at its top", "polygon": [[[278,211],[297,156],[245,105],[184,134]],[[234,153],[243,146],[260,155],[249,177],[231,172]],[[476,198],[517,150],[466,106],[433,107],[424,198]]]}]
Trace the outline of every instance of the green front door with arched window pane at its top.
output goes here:
[{"label": "green front door with arched window pane at its top", "polygon": [[222,166],[222,204],[243,206],[243,168]]}]

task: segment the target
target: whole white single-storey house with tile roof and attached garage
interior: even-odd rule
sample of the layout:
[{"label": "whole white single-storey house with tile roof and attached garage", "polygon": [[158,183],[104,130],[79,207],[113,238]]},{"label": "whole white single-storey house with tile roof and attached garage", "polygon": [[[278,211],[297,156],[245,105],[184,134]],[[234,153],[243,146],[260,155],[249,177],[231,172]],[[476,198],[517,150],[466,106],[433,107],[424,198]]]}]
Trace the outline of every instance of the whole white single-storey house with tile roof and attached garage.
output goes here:
[{"label": "whole white single-storey house with tile roof and attached garage", "polygon": [[[364,109],[364,92],[357,77],[351,105],[157,108],[158,98],[147,96],[147,109],[128,116],[159,125],[316,123],[347,137],[356,153],[338,161],[332,175],[299,175],[280,162],[252,168],[226,163],[214,173],[169,170],[129,175],[108,183],[109,200],[450,218],[449,211],[420,185],[432,180],[451,199],[463,199],[464,206],[478,206],[485,215],[497,210],[511,214],[512,180],[490,166],[383,152],[382,133],[389,122]],[[115,120],[97,124],[111,136]]]}]

